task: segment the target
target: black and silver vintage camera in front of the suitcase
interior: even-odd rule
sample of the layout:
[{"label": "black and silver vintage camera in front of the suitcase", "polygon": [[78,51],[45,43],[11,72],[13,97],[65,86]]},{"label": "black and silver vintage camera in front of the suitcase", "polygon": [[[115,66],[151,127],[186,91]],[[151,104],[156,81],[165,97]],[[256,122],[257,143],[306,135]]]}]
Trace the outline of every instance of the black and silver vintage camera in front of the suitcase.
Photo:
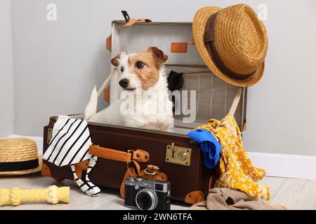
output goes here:
[{"label": "black and silver vintage camera in front of the suitcase", "polygon": [[130,177],[125,181],[126,207],[142,210],[170,210],[170,182]]}]

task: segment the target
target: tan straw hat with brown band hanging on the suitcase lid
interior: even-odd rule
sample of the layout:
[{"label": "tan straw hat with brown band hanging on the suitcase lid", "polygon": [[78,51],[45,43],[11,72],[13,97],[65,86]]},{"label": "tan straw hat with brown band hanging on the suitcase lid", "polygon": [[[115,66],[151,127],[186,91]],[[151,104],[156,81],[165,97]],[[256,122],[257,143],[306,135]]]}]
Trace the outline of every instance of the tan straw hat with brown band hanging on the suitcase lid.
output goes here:
[{"label": "tan straw hat with brown band hanging on the suitcase lid", "polygon": [[193,20],[193,38],[206,66],[219,78],[240,87],[261,79],[268,35],[252,8],[204,7]]}]

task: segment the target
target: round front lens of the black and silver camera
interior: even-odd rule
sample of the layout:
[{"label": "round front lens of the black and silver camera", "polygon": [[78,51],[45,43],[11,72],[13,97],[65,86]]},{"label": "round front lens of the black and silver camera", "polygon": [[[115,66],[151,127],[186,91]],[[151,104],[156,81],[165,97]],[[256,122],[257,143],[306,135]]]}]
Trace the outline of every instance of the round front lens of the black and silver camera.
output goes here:
[{"label": "round front lens of the black and silver camera", "polygon": [[136,195],[136,205],[142,210],[152,210],[157,207],[157,193],[152,188],[143,188]]}]

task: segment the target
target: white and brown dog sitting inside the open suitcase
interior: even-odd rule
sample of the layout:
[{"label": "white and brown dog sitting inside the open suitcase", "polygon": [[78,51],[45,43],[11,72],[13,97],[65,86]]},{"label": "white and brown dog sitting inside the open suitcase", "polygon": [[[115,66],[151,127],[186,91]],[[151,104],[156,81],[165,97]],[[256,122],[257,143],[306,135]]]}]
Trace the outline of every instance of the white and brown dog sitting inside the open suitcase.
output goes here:
[{"label": "white and brown dog sitting inside the open suitcase", "polygon": [[96,113],[98,94],[95,87],[86,106],[84,120],[170,131],[173,127],[173,105],[164,66],[167,59],[168,56],[156,47],[129,55],[122,52],[114,57],[111,63],[119,76],[121,95],[128,97],[121,97]]}]

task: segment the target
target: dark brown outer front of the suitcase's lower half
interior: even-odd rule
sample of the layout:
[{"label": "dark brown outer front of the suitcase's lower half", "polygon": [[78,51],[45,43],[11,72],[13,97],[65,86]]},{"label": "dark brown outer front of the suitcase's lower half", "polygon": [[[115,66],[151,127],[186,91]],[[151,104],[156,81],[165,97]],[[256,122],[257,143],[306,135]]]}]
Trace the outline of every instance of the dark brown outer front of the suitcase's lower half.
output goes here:
[{"label": "dark brown outer front of the suitcase's lower half", "polygon": [[[46,139],[44,153],[49,142],[47,137],[52,132],[56,118],[51,117],[49,124],[44,127],[44,139]],[[88,125],[88,128],[93,144],[125,152],[137,148],[147,151],[150,154],[150,161],[140,162],[140,167],[144,169],[150,164],[160,167],[171,181],[172,199],[183,201],[185,196],[192,191],[201,190],[204,193],[208,191],[209,179],[213,172],[204,166],[202,151],[199,149],[199,145],[193,143],[190,138],[180,134],[166,134],[92,123]],[[172,146],[179,147],[177,150],[184,150],[187,153],[186,156],[190,157],[190,164],[177,165],[166,162],[166,148]],[[52,176],[57,181],[73,179],[70,167],[57,167],[47,161],[43,163],[43,169],[46,169],[42,172],[44,175]],[[126,163],[98,158],[96,166],[89,174],[89,179],[97,186],[119,189],[125,172]]]}]

